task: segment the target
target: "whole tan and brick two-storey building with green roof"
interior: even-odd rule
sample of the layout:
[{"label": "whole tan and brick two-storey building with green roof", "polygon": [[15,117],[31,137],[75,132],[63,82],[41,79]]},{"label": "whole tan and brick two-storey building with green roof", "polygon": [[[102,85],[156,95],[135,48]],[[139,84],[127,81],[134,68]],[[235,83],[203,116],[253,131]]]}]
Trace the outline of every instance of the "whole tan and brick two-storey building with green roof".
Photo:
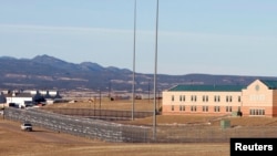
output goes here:
[{"label": "whole tan and brick two-storey building with green roof", "polygon": [[163,114],[277,116],[277,81],[243,85],[177,85],[163,92]]}]

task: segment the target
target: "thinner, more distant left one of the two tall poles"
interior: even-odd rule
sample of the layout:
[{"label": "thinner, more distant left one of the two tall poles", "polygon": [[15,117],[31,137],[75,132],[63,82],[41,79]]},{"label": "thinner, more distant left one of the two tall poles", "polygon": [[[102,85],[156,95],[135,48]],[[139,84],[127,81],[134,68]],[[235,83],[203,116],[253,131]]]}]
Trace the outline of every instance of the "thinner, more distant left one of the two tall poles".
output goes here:
[{"label": "thinner, more distant left one of the two tall poles", "polygon": [[134,49],[133,49],[132,121],[134,119],[134,108],[135,108],[135,32],[136,32],[136,0],[134,1]]}]

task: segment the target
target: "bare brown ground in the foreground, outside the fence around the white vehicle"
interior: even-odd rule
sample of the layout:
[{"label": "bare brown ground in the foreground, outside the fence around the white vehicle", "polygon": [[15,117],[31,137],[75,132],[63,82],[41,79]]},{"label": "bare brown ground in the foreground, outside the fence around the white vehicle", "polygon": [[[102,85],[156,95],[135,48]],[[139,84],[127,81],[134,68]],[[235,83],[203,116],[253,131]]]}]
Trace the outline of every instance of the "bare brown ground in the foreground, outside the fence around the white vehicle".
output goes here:
[{"label": "bare brown ground in the foreground, outside the fence around the white vehicle", "polygon": [[228,156],[229,144],[105,143],[33,127],[0,116],[0,156]]}]

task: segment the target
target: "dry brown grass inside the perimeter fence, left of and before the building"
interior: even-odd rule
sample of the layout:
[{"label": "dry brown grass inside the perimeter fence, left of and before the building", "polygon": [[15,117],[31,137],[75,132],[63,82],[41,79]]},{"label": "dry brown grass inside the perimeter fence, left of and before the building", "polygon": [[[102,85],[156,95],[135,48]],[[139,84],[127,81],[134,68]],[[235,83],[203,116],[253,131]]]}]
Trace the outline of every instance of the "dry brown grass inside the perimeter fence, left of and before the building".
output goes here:
[{"label": "dry brown grass inside the perimeter fence, left of and before the building", "polygon": [[[102,110],[124,110],[131,111],[133,102],[131,100],[121,101],[107,101],[102,100],[90,103],[89,101],[81,101],[76,103],[60,103],[48,105],[47,107],[60,107],[60,108],[96,108],[101,105]],[[156,107],[161,105],[161,102],[156,102]],[[135,111],[152,111],[154,110],[153,100],[136,100],[134,102]],[[209,122],[214,126],[219,126],[222,116],[202,116],[202,115],[157,115],[157,125],[177,125],[177,124],[193,124],[193,123],[207,123]],[[271,125],[277,126],[277,117],[228,117],[233,126],[264,126]],[[123,121],[121,123],[135,124],[135,125],[152,125],[153,117],[137,118],[134,121]]]}]

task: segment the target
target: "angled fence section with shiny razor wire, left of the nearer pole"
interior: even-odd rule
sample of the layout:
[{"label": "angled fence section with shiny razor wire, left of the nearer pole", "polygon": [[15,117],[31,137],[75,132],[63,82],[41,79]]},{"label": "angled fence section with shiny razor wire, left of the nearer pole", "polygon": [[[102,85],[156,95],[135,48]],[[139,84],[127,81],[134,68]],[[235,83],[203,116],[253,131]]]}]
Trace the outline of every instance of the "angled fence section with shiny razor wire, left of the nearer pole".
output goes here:
[{"label": "angled fence section with shiny razor wire, left of the nearer pole", "polygon": [[8,107],[4,108],[3,115],[6,119],[30,122],[34,126],[55,132],[106,142],[147,143],[151,132],[148,127],[61,115],[39,108],[19,110]]}]

